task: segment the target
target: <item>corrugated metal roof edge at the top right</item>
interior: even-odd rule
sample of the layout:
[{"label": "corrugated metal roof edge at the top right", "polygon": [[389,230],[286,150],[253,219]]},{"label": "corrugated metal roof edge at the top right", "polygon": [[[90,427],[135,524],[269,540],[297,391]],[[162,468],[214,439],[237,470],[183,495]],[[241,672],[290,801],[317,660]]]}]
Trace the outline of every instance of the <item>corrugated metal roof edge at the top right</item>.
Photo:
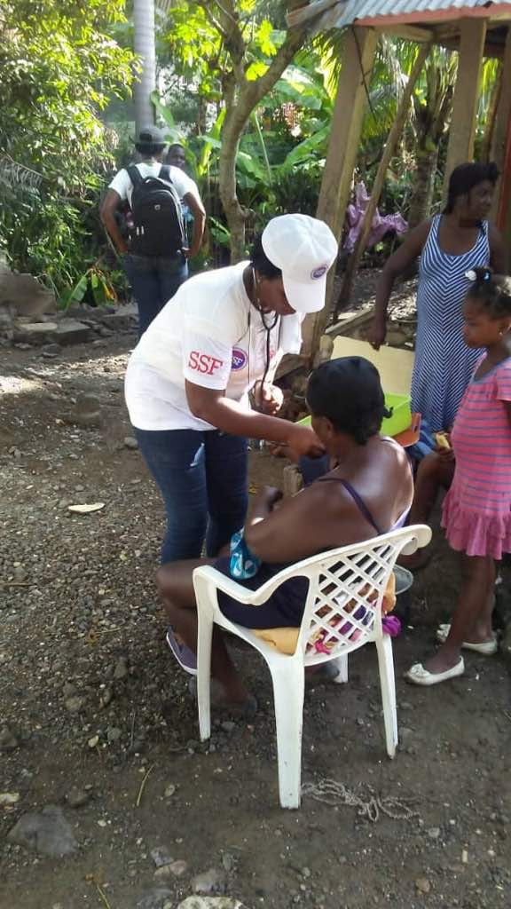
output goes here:
[{"label": "corrugated metal roof edge at the top right", "polygon": [[[374,19],[378,16],[396,16],[403,21],[406,15],[426,13],[427,18],[436,12],[448,10],[470,10],[487,7],[491,15],[492,6],[509,6],[511,0],[316,0],[288,15],[289,22],[316,19],[315,30],[319,28],[344,28],[357,20]],[[460,18],[463,16],[461,13]]]}]

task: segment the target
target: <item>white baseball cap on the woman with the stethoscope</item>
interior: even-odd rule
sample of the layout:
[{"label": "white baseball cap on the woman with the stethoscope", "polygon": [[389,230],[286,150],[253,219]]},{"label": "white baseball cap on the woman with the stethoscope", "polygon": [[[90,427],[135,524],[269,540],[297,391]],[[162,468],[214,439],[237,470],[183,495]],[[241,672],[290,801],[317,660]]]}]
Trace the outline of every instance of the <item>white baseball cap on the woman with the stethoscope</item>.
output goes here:
[{"label": "white baseball cap on the woman with the stethoscope", "polygon": [[282,271],[287,302],[297,313],[317,313],[325,305],[326,274],[338,246],[325,221],[310,215],[272,218],[261,237],[266,256]]}]

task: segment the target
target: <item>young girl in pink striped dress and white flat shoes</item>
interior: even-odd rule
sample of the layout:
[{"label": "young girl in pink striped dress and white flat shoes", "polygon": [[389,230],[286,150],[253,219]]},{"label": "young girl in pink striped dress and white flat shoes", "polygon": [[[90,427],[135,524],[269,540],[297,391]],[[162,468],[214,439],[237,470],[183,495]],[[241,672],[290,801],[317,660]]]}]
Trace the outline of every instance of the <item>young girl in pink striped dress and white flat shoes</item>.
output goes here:
[{"label": "young girl in pink striped dress and white flat shoes", "polygon": [[477,268],[464,303],[469,347],[486,347],[466,388],[451,435],[454,480],[442,524],[453,549],[466,554],[466,574],[452,624],[440,625],[442,646],[406,673],[431,685],[462,675],[462,649],[495,654],[492,629],[496,561],[511,552],[511,278]]}]

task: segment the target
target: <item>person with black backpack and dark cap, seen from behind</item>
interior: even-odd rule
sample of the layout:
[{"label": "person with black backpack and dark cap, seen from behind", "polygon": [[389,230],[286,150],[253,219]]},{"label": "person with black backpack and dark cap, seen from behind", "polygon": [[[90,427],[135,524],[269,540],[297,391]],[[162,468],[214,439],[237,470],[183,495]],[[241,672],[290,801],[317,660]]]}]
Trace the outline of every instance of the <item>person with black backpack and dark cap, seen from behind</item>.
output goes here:
[{"label": "person with black backpack and dark cap, seen from behind", "polygon": [[[194,181],[179,167],[161,164],[165,137],[160,129],[145,126],[137,135],[135,148],[141,161],[115,175],[101,206],[101,218],[123,257],[142,335],[186,280],[187,260],[198,253],[202,242],[205,209]],[[194,216],[189,246],[181,199]],[[132,222],[128,240],[115,220],[115,213],[126,201]]]}]

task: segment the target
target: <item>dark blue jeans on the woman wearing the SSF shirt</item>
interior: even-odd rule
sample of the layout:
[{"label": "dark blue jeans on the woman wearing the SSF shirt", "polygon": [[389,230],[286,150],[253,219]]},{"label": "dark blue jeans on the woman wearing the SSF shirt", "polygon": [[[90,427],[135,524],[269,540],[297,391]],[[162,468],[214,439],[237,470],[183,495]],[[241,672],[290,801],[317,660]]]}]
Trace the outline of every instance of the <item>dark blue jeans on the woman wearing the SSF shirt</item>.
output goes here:
[{"label": "dark blue jeans on the woman wearing the SSF shirt", "polygon": [[[245,523],[248,445],[218,430],[136,429],[166,509],[162,564],[218,554]],[[207,530],[207,532],[206,532]]]}]

